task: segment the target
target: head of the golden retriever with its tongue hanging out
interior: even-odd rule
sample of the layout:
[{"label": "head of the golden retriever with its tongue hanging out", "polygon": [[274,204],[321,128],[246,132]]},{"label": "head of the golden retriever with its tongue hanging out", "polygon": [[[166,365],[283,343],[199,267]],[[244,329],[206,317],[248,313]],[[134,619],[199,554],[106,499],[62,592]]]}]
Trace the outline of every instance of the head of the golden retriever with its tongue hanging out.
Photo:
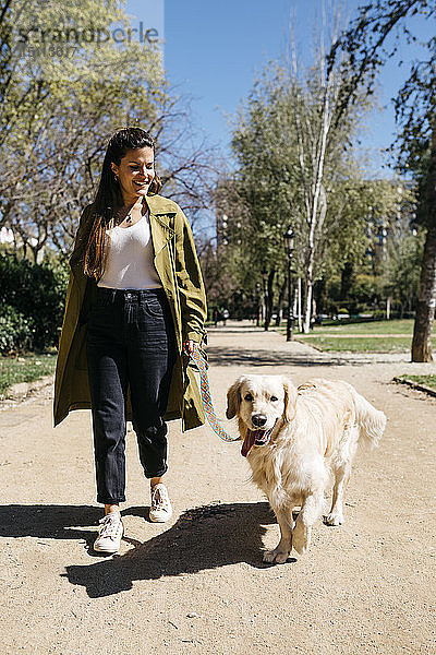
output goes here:
[{"label": "head of the golden retriever with its tongue hanging out", "polygon": [[227,418],[238,416],[242,454],[263,446],[274,438],[274,428],[292,420],[296,389],[283,376],[242,376],[227,392]]}]

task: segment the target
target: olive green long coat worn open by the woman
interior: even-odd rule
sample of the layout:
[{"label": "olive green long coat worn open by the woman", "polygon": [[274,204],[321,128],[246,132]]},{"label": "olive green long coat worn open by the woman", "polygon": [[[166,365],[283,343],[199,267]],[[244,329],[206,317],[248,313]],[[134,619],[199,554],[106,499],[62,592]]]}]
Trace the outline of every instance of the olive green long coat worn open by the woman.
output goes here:
[{"label": "olive green long coat worn open by the woman", "polygon": [[[206,297],[191,227],[182,210],[161,195],[147,195],[154,263],[170,303],[179,356],[173,368],[165,418],[182,419],[182,430],[205,422],[198,386],[182,356],[182,343],[205,337]],[[55,379],[55,425],[72,409],[89,409],[86,330],[97,285],[83,273],[83,254],[92,227],[92,205],[81,217],[66,291]],[[128,402],[128,418],[131,418]]]}]

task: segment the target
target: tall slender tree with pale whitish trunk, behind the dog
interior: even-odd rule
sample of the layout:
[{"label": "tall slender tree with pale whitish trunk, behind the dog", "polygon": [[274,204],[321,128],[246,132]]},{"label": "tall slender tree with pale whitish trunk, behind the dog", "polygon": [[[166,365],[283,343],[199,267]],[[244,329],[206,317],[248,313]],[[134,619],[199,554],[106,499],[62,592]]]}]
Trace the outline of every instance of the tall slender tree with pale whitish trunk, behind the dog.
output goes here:
[{"label": "tall slender tree with pale whitish trunk, behind the dog", "polygon": [[303,75],[293,58],[286,91],[287,109],[296,141],[296,180],[302,190],[298,229],[304,235],[303,330],[306,333],[313,311],[313,287],[320,277],[326,253],[336,239],[344,252],[347,237],[354,231],[349,221],[353,215],[349,201],[360,180],[348,151],[366,108],[364,103],[356,103],[343,115],[341,122],[336,120],[341,90],[347,80],[340,74],[339,68],[327,68],[323,52],[324,48],[313,69]]}]

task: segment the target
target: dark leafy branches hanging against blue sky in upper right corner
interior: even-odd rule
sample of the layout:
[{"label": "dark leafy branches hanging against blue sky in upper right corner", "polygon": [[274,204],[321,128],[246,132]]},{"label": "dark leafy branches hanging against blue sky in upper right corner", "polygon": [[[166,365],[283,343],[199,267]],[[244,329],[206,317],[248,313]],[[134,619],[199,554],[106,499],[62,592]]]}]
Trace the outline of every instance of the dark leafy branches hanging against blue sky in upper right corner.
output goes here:
[{"label": "dark leafy branches hanging against blue sky in upper right corner", "polygon": [[[328,56],[330,68],[341,60],[347,79],[339,98],[338,122],[362,92],[374,93],[379,69],[398,55],[401,39],[417,40],[410,21],[416,14],[431,21],[436,5],[428,0],[375,0],[359,8],[358,16],[335,41]],[[403,127],[404,153],[415,162],[416,157],[421,158],[423,147],[428,147],[434,122],[435,38],[429,38],[425,47],[426,55],[422,61],[410,64],[409,76],[396,98],[397,119]],[[407,157],[402,160],[409,165]]]}]

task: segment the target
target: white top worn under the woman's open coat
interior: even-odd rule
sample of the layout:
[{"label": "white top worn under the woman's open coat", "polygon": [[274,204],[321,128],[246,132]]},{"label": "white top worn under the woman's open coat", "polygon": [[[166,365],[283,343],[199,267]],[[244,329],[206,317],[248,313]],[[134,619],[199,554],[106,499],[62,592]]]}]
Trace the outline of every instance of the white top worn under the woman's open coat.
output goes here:
[{"label": "white top worn under the woman's open coat", "polygon": [[162,286],[153,263],[147,214],[132,227],[116,226],[107,235],[110,246],[106,270],[97,286],[110,289],[156,289]]}]

